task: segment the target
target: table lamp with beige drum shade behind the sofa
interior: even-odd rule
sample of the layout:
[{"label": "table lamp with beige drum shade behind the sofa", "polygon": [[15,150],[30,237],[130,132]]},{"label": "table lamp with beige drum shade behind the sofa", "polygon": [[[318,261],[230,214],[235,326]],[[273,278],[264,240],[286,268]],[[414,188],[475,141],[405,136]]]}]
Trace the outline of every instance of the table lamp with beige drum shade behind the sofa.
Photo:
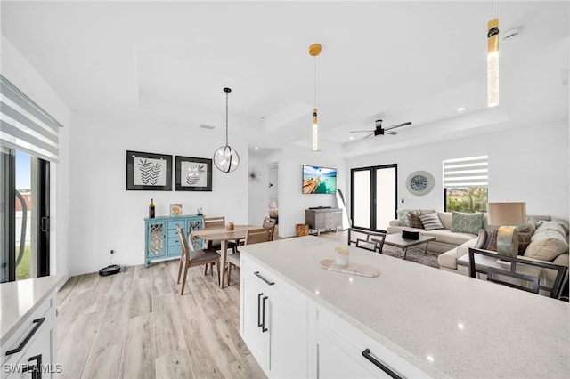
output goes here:
[{"label": "table lamp with beige drum shade behind the sofa", "polygon": [[497,230],[497,253],[517,257],[518,234],[517,226],[526,223],[525,203],[489,203],[489,225],[500,226]]}]

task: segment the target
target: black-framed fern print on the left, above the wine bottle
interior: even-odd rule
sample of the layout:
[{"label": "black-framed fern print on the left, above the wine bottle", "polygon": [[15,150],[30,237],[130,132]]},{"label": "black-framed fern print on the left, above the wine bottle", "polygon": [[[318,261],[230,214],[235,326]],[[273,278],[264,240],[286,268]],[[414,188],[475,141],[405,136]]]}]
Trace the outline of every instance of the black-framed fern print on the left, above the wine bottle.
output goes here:
[{"label": "black-framed fern print on the left, above the wine bottle", "polygon": [[126,150],[126,190],[172,190],[172,156]]}]

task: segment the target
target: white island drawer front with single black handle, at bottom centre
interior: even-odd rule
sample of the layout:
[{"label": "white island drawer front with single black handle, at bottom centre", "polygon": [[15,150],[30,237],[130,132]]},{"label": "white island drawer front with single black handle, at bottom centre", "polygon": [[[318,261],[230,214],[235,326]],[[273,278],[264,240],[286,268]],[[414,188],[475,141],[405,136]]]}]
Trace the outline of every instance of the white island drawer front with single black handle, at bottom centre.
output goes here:
[{"label": "white island drawer front with single black handle, at bottom centre", "polygon": [[[335,361],[338,361],[339,357],[344,357],[342,360],[346,360],[346,365],[359,367],[358,371],[362,377],[389,377],[387,370],[402,377],[429,377],[418,367],[412,366],[394,351],[365,335],[346,320],[340,319],[330,310],[322,308],[321,305],[317,305],[316,327],[318,350],[322,351],[322,354],[327,354],[326,357],[317,359],[319,372],[327,372],[326,367],[321,367],[322,364],[335,367],[337,365]],[[365,355],[369,358],[367,359]]]}]

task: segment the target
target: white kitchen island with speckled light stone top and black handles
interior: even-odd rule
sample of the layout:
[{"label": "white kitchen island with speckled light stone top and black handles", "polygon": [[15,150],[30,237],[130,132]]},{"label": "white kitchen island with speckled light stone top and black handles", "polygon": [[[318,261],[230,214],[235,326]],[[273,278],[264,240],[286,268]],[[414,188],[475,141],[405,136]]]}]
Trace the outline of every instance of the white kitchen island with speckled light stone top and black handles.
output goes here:
[{"label": "white kitchen island with speckled light stone top and black handles", "polygon": [[[350,261],[378,277],[319,267],[336,246],[307,236],[240,247],[240,333],[267,375],[570,375],[567,302],[354,246]],[[288,359],[295,372],[281,371]]]}]

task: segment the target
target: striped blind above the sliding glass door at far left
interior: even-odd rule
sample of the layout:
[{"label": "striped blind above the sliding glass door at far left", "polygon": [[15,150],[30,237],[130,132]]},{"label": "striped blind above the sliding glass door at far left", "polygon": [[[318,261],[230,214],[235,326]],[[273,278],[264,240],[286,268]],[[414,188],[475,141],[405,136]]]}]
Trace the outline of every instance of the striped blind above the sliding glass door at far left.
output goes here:
[{"label": "striped blind above the sliding glass door at far left", "polygon": [[57,162],[61,124],[4,76],[0,79],[0,144]]}]

